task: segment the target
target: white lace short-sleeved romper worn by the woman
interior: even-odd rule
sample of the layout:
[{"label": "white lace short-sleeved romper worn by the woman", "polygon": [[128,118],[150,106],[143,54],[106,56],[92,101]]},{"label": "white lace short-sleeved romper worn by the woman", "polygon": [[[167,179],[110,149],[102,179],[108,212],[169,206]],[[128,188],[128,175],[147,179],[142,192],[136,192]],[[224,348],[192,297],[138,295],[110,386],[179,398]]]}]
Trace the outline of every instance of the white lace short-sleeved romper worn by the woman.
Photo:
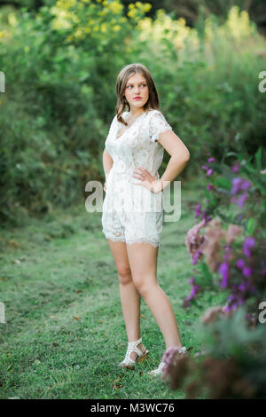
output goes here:
[{"label": "white lace short-sleeved romper worn by the woman", "polygon": [[[129,112],[122,117],[127,120]],[[136,167],[142,167],[154,177],[163,159],[164,147],[158,142],[160,133],[172,130],[159,110],[151,109],[118,137],[124,125],[113,117],[106,138],[106,150],[113,158],[113,167],[106,183],[102,226],[106,239],[160,246],[162,229],[162,192],[152,193],[132,177]]]}]

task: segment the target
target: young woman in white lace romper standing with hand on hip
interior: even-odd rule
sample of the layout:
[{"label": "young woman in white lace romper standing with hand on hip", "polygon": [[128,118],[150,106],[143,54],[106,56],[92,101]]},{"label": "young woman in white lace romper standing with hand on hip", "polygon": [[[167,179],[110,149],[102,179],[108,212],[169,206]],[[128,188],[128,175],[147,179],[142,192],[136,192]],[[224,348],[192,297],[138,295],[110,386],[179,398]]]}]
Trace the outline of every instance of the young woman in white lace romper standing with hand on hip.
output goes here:
[{"label": "young woman in white lace romper standing with hand on hip", "polygon": [[[122,68],[116,94],[116,114],[103,153],[106,197],[102,225],[118,271],[129,341],[119,366],[132,369],[149,351],[140,337],[140,295],[153,312],[166,349],[176,346],[180,353],[186,350],[174,311],[156,273],[162,190],[184,169],[190,153],[161,114],[158,93],[145,66],[131,64]],[[125,111],[126,107],[129,111]],[[164,149],[171,158],[160,177],[158,169]],[[159,367],[149,374],[161,374],[164,365],[160,361]]]}]

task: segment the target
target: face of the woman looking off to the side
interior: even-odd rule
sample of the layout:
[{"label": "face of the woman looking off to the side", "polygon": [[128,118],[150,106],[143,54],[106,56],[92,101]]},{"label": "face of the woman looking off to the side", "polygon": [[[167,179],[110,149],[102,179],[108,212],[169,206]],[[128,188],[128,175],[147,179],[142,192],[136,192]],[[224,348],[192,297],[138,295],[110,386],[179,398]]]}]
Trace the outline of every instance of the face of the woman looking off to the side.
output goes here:
[{"label": "face of the woman looking off to the side", "polygon": [[[131,75],[126,84],[124,95],[129,102],[130,110],[134,107],[141,108],[145,106],[149,98],[149,90],[145,77],[140,74]],[[136,97],[140,97],[140,99],[135,99]]]}]

